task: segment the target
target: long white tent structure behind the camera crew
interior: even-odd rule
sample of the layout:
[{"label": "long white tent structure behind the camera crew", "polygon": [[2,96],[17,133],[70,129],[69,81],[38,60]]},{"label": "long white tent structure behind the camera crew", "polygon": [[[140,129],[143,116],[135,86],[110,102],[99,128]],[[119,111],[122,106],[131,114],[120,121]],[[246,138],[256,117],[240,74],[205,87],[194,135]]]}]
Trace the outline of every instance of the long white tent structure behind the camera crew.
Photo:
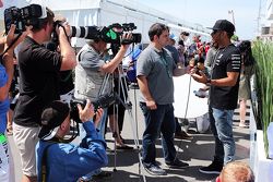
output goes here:
[{"label": "long white tent structure behind the camera crew", "polygon": [[[31,3],[46,5],[67,17],[73,26],[108,26],[112,23],[134,23],[138,27],[134,32],[142,34],[142,41],[149,43],[147,31],[154,23],[171,25],[171,32],[178,37],[181,29],[209,37],[207,33],[197,31],[183,24],[183,21],[161,11],[147,8],[134,0],[4,0],[5,8],[16,5],[19,8]],[[0,14],[3,14],[1,9]],[[2,17],[3,19],[3,17]],[[175,21],[174,21],[175,20]],[[83,39],[74,38],[72,44],[81,47]]]}]

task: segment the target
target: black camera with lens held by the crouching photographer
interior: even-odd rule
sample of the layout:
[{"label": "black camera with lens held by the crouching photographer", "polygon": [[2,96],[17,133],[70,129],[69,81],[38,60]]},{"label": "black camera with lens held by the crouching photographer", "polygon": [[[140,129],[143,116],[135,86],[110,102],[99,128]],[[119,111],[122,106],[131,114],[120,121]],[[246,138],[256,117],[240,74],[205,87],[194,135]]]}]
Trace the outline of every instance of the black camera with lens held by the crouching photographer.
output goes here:
[{"label": "black camera with lens held by the crouching photographer", "polygon": [[[109,106],[116,104],[118,101],[118,96],[116,93],[110,93],[110,94],[105,94],[102,96],[98,96],[92,104],[94,106],[94,112],[97,111],[97,109],[99,108],[108,108]],[[73,98],[70,101],[70,118],[78,122],[81,123],[82,121],[80,120],[79,117],[79,110],[78,110],[78,104],[80,104],[82,106],[82,108],[85,107],[86,105],[86,100],[83,99],[76,99]]]}]

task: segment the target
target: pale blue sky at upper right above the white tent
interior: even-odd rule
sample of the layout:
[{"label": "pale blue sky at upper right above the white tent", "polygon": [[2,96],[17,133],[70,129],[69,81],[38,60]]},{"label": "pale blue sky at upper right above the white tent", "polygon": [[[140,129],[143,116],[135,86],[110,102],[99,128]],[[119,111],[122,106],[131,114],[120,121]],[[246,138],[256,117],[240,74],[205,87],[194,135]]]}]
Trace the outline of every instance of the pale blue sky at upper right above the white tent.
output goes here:
[{"label": "pale blue sky at upper right above the white tent", "polygon": [[[233,22],[233,15],[228,13],[233,11],[236,35],[239,39],[253,39],[258,32],[260,0],[138,0],[138,2],[187,22],[201,24],[203,27],[212,27],[219,19]],[[261,0],[261,16],[264,16],[265,4],[266,0]]]}]

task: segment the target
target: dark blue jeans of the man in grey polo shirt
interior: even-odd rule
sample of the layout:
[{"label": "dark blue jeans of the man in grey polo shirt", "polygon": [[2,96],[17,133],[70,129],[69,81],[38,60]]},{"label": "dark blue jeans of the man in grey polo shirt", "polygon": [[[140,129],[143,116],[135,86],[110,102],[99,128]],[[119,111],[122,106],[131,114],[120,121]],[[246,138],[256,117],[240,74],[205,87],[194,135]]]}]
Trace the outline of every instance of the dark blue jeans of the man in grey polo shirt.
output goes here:
[{"label": "dark blue jeans of the man in grey polo shirt", "polygon": [[155,142],[162,133],[162,146],[166,162],[176,158],[174,145],[175,117],[173,105],[157,105],[156,110],[150,110],[145,102],[140,102],[145,118],[145,131],[143,133],[143,163],[155,165]]}]

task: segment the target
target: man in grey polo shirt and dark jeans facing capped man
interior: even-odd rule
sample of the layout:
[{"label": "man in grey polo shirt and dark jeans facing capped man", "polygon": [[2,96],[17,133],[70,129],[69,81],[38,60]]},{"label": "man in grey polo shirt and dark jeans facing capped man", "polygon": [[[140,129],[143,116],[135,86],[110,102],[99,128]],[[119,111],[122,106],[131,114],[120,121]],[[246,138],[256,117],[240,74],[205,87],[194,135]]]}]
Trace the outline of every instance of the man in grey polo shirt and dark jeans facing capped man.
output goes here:
[{"label": "man in grey polo shirt and dark jeans facing capped man", "polygon": [[142,159],[146,171],[155,175],[166,174],[155,161],[155,141],[161,133],[166,165],[169,168],[189,166],[177,158],[174,144],[173,75],[182,75],[186,69],[177,69],[170,53],[164,48],[168,44],[168,36],[169,28],[166,25],[153,24],[149,29],[151,44],[141,52],[136,62],[136,76],[141,90],[140,107],[145,118]]}]

